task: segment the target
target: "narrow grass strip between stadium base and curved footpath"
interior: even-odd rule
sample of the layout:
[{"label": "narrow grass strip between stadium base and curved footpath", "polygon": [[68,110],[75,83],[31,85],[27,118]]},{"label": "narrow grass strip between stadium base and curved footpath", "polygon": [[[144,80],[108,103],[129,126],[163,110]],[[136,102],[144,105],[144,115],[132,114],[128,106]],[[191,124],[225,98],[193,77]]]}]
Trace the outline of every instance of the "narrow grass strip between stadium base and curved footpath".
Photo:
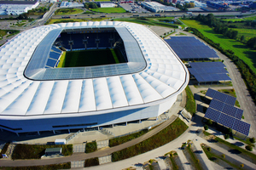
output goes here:
[{"label": "narrow grass strip between stadium base and curved footpath", "polygon": [[142,136],[143,134],[148,133],[148,129],[144,129],[138,133],[132,133],[126,136],[109,139],[109,147],[117,146],[119,144],[124,144],[132,139],[137,139],[138,137]]}]

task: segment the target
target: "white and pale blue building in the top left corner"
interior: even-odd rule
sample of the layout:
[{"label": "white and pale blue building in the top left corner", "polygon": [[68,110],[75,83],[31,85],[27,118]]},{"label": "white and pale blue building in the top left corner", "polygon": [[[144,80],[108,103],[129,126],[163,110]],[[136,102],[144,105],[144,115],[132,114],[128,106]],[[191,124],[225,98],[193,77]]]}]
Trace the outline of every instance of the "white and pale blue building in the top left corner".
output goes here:
[{"label": "white and pale blue building in the top left corner", "polygon": [[0,14],[19,15],[38,5],[38,1],[0,1]]}]

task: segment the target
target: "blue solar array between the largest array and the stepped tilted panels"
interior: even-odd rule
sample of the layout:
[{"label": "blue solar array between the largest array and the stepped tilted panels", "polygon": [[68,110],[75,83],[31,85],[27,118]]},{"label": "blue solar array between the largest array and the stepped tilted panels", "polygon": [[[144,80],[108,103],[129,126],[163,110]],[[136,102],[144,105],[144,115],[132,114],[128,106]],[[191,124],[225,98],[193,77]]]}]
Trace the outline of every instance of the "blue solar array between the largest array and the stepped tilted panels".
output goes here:
[{"label": "blue solar array between the largest array and the stepped tilted panels", "polygon": [[230,81],[228,71],[224,69],[222,62],[190,62],[192,68],[188,68],[198,82]]}]

